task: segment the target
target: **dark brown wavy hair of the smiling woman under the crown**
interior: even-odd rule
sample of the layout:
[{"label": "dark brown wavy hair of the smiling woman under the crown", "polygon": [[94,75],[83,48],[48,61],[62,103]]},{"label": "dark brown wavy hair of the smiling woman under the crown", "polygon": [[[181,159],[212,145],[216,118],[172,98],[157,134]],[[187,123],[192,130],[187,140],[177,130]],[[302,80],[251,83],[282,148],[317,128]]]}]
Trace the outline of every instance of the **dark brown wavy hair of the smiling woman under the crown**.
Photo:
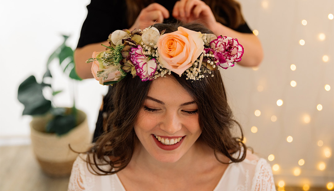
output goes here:
[{"label": "dark brown wavy hair of the smiling woman under the crown", "polygon": [[[165,33],[176,31],[178,26],[181,24],[154,25],[159,31],[166,29]],[[212,33],[200,24],[193,23],[182,26],[201,33]],[[246,156],[246,146],[241,141],[243,140],[242,130],[233,119],[232,111],[227,104],[220,72],[216,70],[212,74],[214,77],[209,76],[203,80],[195,81],[186,80],[185,75],[180,77],[172,73],[171,76],[198,105],[199,126],[202,130],[199,139],[214,150],[218,161],[217,153],[222,153],[231,162],[241,162]],[[107,130],[88,151],[90,157],[87,157],[89,169],[93,169],[96,174],[114,174],[129,164],[135,140],[139,141],[134,131],[134,125],[151,83],[152,81],[142,82],[139,77],[132,78],[132,75],[127,75],[120,82],[114,84],[112,93],[107,95],[112,96],[109,107],[113,108],[105,123]],[[240,127],[241,137],[233,137],[230,132],[235,124]],[[241,150],[244,152],[239,152],[239,156],[232,156],[233,153]],[[241,156],[240,153],[242,153]],[[103,164],[109,164],[110,169],[101,169],[99,167],[102,164],[101,161],[104,161]]]}]

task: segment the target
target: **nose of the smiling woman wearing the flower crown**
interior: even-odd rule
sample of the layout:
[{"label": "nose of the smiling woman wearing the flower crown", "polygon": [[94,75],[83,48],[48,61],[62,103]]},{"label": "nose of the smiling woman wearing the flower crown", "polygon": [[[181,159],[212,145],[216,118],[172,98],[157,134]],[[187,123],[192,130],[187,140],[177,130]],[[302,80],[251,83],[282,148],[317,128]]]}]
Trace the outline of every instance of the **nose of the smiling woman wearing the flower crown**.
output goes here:
[{"label": "nose of the smiling woman wearing the flower crown", "polygon": [[167,112],[160,123],[160,129],[166,131],[169,134],[174,134],[181,130],[182,123],[177,113]]}]

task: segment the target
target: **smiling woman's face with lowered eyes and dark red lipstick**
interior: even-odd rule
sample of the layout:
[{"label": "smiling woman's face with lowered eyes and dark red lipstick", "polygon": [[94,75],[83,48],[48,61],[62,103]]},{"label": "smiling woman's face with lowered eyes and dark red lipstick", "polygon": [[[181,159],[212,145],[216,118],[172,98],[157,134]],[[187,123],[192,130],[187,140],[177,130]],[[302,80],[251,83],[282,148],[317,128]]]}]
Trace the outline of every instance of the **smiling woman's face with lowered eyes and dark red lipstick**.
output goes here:
[{"label": "smiling woman's face with lowered eyes and dark red lipstick", "polygon": [[153,80],[135,124],[138,146],[158,161],[178,161],[201,134],[197,109],[174,78]]}]

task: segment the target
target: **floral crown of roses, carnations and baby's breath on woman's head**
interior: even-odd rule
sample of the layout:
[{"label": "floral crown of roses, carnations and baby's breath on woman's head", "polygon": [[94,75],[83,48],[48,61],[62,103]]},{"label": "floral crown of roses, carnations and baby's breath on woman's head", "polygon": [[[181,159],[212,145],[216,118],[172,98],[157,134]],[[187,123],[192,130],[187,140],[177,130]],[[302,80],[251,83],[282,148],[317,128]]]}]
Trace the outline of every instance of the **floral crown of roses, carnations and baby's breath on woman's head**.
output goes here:
[{"label": "floral crown of roses, carnations and baby's breath on woman's head", "polygon": [[116,30],[108,37],[106,51],[94,52],[92,73],[102,85],[122,80],[127,73],[144,82],[174,72],[187,80],[200,80],[219,67],[227,69],[239,62],[243,47],[237,39],[202,34],[184,27],[166,33],[155,27],[143,31]]}]

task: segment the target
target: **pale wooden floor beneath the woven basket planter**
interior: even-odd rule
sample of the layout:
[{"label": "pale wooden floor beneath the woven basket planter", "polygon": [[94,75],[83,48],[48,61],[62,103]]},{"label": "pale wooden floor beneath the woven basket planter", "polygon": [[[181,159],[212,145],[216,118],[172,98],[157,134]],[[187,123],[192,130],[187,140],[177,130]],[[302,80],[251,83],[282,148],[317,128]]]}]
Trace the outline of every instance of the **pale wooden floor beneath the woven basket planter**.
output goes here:
[{"label": "pale wooden floor beneath the woven basket planter", "polygon": [[[30,145],[0,147],[0,191],[66,191],[69,177],[45,175],[34,158]],[[279,191],[282,189],[278,189]],[[302,191],[285,187],[285,191]],[[311,188],[309,191],[326,191]]]}]

